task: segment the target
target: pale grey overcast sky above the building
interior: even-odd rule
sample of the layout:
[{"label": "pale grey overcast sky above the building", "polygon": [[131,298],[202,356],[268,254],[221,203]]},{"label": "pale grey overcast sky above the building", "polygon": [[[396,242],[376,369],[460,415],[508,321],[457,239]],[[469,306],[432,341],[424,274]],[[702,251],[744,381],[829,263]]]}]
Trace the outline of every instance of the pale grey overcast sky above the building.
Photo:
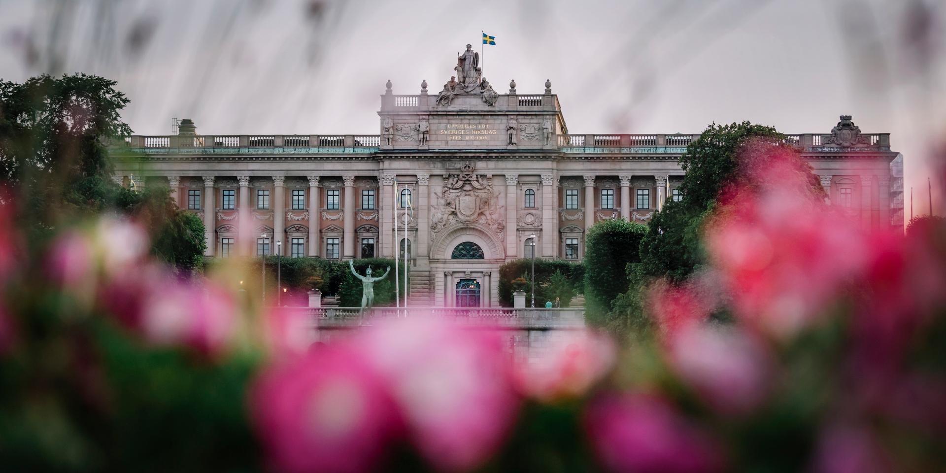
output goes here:
[{"label": "pale grey overcast sky above the building", "polygon": [[909,216],[909,186],[925,213],[946,143],[941,4],[0,0],[0,79],[116,79],[139,134],[168,133],[171,117],[210,134],[377,133],[387,79],[395,94],[422,79],[440,90],[483,30],[497,43],[483,75],[498,91],[516,79],[519,94],[551,79],[572,133],[742,120],[826,133],[852,114],[904,154]]}]

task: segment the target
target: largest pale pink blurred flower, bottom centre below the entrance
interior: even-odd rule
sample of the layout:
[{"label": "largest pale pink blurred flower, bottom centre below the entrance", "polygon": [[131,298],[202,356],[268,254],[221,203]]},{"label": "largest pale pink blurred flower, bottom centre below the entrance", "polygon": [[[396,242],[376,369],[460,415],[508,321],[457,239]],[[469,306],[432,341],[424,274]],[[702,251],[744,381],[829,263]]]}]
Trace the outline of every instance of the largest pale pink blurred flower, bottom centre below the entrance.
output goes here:
[{"label": "largest pale pink blurred flower, bottom centre below the entrance", "polygon": [[414,317],[364,335],[360,349],[392,386],[417,447],[432,464],[468,470],[499,447],[517,398],[495,333]]}]

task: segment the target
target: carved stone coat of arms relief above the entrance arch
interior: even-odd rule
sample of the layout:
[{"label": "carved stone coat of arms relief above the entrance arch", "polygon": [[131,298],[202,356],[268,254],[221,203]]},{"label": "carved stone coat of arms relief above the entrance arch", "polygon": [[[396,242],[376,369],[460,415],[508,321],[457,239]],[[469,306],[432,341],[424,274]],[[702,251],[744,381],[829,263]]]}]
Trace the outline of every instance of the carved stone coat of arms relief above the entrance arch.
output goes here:
[{"label": "carved stone coat of arms relief above the entrance arch", "polygon": [[460,174],[447,178],[440,193],[434,192],[430,206],[430,231],[434,234],[448,227],[474,222],[488,227],[505,240],[505,223],[499,205],[499,193],[484,175],[477,175],[468,163]]}]

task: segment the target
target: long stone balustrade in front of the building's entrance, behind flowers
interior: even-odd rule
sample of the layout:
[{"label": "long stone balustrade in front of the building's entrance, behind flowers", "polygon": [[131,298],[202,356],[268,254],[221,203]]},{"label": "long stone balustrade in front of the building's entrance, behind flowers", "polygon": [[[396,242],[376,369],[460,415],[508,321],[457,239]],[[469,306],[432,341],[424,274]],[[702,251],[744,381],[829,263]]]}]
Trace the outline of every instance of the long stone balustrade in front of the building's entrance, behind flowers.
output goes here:
[{"label": "long stone balustrade in front of the building's entrance, behind flowers", "polygon": [[287,307],[306,312],[320,328],[348,328],[391,319],[437,319],[503,329],[552,330],[585,326],[585,309],[508,307]]}]

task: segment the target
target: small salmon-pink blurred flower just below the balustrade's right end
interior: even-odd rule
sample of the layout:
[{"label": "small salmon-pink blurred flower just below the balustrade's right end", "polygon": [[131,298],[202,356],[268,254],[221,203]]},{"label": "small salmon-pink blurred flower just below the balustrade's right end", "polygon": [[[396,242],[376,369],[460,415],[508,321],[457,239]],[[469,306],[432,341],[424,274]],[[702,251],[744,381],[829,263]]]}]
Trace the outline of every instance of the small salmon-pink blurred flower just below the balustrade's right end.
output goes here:
[{"label": "small salmon-pink blurred flower just below the balustrade's right end", "polygon": [[566,333],[539,359],[517,363],[517,389],[545,402],[583,395],[611,369],[615,352],[614,342],[605,335],[588,330]]}]

